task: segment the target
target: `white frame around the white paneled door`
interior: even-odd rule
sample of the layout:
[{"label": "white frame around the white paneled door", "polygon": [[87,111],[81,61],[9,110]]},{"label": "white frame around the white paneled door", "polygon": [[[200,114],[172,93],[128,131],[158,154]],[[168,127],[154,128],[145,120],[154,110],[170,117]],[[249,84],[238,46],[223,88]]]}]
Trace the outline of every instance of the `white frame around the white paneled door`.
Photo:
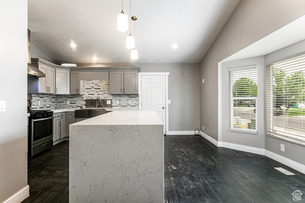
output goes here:
[{"label": "white frame around the white paneled door", "polygon": [[138,74],[138,86],[139,88],[139,110],[142,110],[142,75],[165,75],[165,132],[168,133],[168,75],[169,72],[142,72]]}]

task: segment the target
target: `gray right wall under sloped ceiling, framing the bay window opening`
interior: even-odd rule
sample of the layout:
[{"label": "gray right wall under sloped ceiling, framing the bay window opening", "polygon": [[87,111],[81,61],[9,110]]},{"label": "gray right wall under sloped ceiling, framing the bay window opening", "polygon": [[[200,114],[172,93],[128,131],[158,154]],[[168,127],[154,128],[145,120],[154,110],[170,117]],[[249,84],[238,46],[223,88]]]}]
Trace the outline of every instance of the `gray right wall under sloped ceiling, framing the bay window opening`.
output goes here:
[{"label": "gray right wall under sloped ceiling, framing the bay window opening", "polygon": [[[303,0],[243,0],[200,62],[200,130],[218,141],[218,65],[305,13]],[[205,83],[201,80],[205,79]],[[204,125],[204,130],[202,126]]]}]

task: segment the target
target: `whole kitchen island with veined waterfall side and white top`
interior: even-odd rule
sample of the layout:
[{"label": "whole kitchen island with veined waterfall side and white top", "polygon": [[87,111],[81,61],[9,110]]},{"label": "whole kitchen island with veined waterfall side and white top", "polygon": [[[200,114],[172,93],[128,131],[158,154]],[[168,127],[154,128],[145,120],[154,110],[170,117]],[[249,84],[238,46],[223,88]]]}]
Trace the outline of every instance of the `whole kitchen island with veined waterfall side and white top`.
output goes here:
[{"label": "whole kitchen island with veined waterfall side and white top", "polygon": [[70,202],[164,202],[163,123],[113,111],[70,125]]}]

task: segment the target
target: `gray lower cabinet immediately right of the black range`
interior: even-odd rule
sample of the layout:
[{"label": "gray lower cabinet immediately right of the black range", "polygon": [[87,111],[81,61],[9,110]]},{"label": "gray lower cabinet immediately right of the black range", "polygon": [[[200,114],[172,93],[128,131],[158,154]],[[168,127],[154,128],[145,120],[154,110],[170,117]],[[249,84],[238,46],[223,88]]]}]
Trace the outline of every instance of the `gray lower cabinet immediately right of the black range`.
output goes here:
[{"label": "gray lower cabinet immediately right of the black range", "polygon": [[66,137],[66,112],[53,114],[53,141]]}]

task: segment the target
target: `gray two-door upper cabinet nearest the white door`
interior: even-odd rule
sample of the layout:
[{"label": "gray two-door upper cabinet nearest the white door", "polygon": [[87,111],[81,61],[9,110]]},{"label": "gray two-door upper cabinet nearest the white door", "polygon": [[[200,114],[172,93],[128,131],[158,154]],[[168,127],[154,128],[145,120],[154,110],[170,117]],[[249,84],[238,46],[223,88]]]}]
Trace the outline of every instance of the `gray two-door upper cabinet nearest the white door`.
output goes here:
[{"label": "gray two-door upper cabinet nearest the white door", "polygon": [[109,71],[110,94],[138,94],[138,71]]}]

